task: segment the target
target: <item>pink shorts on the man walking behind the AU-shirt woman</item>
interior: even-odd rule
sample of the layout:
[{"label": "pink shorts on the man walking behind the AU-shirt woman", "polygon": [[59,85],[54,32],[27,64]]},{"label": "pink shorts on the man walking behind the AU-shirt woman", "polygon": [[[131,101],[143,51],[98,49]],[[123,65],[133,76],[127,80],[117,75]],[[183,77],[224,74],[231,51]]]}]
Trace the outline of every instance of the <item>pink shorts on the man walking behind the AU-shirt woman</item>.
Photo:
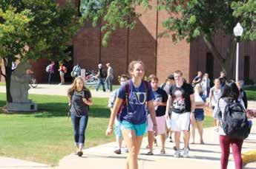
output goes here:
[{"label": "pink shorts on the man walking behind the AU-shirt woman", "polygon": [[[165,134],[165,116],[156,117],[157,134]],[[153,122],[151,116],[148,115],[148,131],[153,131]]]}]

